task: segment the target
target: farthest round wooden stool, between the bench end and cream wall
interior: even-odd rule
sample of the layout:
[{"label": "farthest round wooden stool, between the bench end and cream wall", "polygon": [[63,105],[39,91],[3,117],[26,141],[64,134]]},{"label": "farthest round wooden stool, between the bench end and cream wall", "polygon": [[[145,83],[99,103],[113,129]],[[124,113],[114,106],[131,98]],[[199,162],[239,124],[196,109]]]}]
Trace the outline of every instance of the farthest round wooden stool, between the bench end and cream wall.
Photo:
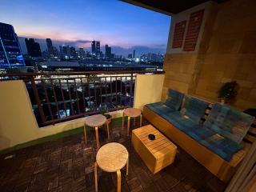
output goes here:
[{"label": "farthest round wooden stool, between the bench end and cream wall", "polygon": [[138,116],[140,116],[140,126],[142,126],[142,110],[136,109],[136,108],[126,108],[123,110],[122,113],[122,128],[124,127],[124,118],[125,116],[128,116],[128,125],[127,125],[127,134],[129,135],[130,133],[130,118],[134,118],[134,126],[135,126],[135,121]]}]

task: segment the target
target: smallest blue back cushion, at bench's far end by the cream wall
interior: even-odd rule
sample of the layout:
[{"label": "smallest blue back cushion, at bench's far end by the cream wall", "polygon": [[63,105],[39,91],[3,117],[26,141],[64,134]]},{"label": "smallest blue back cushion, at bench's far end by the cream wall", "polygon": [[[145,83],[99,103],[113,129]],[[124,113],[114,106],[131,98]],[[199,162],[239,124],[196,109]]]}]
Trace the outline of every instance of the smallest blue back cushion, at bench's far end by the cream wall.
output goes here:
[{"label": "smallest blue back cushion, at bench's far end by the cream wall", "polygon": [[173,110],[179,110],[182,105],[184,94],[177,90],[168,90],[168,98],[166,99],[166,106],[169,106]]}]

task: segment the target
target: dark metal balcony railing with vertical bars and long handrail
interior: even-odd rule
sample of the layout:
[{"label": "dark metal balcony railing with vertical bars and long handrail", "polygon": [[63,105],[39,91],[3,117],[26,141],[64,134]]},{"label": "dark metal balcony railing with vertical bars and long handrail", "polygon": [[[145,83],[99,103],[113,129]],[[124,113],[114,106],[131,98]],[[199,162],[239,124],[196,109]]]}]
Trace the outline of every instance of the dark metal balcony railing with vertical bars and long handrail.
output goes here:
[{"label": "dark metal balcony railing with vertical bars and long handrail", "polygon": [[136,74],[163,71],[85,71],[0,74],[0,79],[22,79],[38,126],[64,122],[102,110],[121,110],[134,104]]}]

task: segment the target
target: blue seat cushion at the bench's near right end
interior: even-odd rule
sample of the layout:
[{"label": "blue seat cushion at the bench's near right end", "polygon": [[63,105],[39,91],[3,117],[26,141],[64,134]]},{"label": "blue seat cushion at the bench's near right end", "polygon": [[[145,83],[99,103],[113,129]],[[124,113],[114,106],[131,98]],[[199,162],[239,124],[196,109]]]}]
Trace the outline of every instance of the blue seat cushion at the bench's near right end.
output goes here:
[{"label": "blue seat cushion at the bench's near right end", "polygon": [[218,156],[228,162],[232,156],[243,147],[242,144],[230,141],[229,139],[222,137],[220,134],[213,134],[209,138],[203,139],[199,142],[209,150],[213,151],[214,154],[218,154]]}]

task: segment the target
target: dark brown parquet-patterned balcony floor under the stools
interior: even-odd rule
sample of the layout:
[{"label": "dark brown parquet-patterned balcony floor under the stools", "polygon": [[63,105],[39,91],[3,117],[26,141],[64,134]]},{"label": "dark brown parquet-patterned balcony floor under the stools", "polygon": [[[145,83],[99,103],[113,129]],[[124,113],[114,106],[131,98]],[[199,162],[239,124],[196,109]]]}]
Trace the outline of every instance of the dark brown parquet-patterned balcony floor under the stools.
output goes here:
[{"label": "dark brown parquet-patterned balcony floor under the stools", "polygon": [[[144,122],[146,124],[146,122]],[[218,191],[224,183],[210,174],[189,154],[178,148],[175,162],[151,174],[126,137],[121,123],[110,126],[111,141],[130,153],[129,175],[122,171],[122,191]],[[0,156],[0,191],[94,191],[94,131],[85,145],[83,134],[14,151],[13,158]],[[102,129],[101,144],[108,142]],[[116,174],[98,170],[98,191],[116,191]]]}]

